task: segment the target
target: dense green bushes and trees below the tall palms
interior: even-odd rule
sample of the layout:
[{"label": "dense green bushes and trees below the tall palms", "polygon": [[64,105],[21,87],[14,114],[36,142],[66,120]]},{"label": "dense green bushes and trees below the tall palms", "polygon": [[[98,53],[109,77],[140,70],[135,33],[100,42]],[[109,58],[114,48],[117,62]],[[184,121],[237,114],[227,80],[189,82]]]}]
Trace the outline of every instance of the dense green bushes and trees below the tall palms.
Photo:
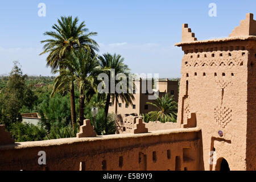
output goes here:
[{"label": "dense green bushes and trees below the tall palms", "polygon": [[[5,86],[0,94],[0,124],[6,125],[16,142],[76,137],[79,125],[77,124],[75,130],[72,129],[69,92],[56,93],[51,97],[54,77],[28,78],[22,75],[18,63],[15,63],[10,76],[5,77],[4,81],[2,78],[0,79],[5,82]],[[36,84],[43,86],[32,86]],[[91,107],[99,108],[95,119],[98,135],[115,133],[114,116],[104,119],[104,99],[105,97],[95,94],[84,108],[85,118],[91,121]],[[79,113],[79,90],[75,92],[75,102],[76,113]],[[38,126],[22,122],[20,113],[34,112],[41,116]]]}]

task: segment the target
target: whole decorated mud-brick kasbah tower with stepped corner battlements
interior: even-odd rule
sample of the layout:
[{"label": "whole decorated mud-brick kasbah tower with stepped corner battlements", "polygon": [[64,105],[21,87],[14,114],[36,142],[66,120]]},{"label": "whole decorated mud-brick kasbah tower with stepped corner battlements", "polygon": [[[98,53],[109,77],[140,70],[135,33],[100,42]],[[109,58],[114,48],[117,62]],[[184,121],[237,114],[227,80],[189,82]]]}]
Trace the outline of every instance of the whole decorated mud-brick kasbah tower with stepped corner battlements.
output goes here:
[{"label": "whole decorated mud-brick kasbah tower with stepped corner battlements", "polygon": [[[197,40],[183,24],[180,127],[200,127],[203,168],[255,170],[256,21],[246,14],[229,38]],[[216,160],[209,163],[210,151]]]}]

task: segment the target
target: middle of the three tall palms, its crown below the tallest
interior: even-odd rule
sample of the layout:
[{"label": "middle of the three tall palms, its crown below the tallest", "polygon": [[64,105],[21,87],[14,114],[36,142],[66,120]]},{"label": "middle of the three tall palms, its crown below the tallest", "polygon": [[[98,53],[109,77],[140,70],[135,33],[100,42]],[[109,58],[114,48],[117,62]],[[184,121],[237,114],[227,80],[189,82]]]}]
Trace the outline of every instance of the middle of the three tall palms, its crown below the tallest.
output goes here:
[{"label": "middle of the three tall palms, its crown below the tallest", "polygon": [[60,72],[55,78],[53,93],[67,82],[77,82],[79,85],[79,123],[80,126],[84,121],[85,93],[90,98],[97,92],[97,76],[101,72],[98,64],[97,55],[91,56],[91,53],[82,48],[80,51],[72,51],[71,54],[60,64],[68,69]]}]

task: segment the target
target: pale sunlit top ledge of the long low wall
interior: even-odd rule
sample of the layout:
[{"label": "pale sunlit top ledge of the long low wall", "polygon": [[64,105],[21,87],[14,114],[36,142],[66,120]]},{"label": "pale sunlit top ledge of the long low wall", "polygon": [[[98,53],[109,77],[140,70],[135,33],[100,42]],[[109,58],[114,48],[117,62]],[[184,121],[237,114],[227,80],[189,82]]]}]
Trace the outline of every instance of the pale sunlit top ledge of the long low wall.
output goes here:
[{"label": "pale sunlit top ledge of the long low wall", "polygon": [[158,136],[158,135],[168,135],[168,134],[182,134],[189,132],[199,132],[201,129],[198,127],[189,129],[168,129],[168,130],[158,130],[151,131],[150,133],[143,134],[114,134],[114,135],[103,135],[98,137],[88,137],[88,138],[61,138],[52,140],[42,140],[34,142],[18,142],[14,144],[6,144],[0,146],[1,150],[13,150],[19,148],[31,148],[31,147],[48,147],[48,146],[58,146],[61,144],[73,144],[80,142],[94,142],[97,140],[110,140],[110,139],[123,139],[123,138],[140,138],[148,136]]}]

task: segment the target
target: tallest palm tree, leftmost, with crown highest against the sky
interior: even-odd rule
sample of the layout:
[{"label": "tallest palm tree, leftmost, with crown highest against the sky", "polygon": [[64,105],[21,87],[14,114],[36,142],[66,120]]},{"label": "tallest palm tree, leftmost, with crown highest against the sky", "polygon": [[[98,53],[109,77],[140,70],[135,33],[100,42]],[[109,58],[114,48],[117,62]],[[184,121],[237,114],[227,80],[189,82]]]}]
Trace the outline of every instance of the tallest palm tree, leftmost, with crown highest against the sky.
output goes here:
[{"label": "tallest palm tree, leftmost, with crown highest against the sky", "polygon": [[[47,67],[51,67],[52,72],[56,69],[67,69],[61,62],[71,53],[72,49],[85,48],[90,51],[91,56],[95,55],[95,51],[98,51],[98,44],[91,39],[91,36],[97,35],[97,32],[88,32],[85,28],[85,23],[78,24],[79,19],[76,17],[72,19],[72,16],[61,16],[57,19],[57,24],[52,26],[53,31],[44,32],[44,35],[50,36],[50,39],[41,41],[45,43],[43,46],[44,51],[40,53],[49,53],[47,56]],[[70,82],[69,92],[71,93],[71,118],[72,126],[76,123],[76,110],[75,110],[75,86],[73,81]]]}]

